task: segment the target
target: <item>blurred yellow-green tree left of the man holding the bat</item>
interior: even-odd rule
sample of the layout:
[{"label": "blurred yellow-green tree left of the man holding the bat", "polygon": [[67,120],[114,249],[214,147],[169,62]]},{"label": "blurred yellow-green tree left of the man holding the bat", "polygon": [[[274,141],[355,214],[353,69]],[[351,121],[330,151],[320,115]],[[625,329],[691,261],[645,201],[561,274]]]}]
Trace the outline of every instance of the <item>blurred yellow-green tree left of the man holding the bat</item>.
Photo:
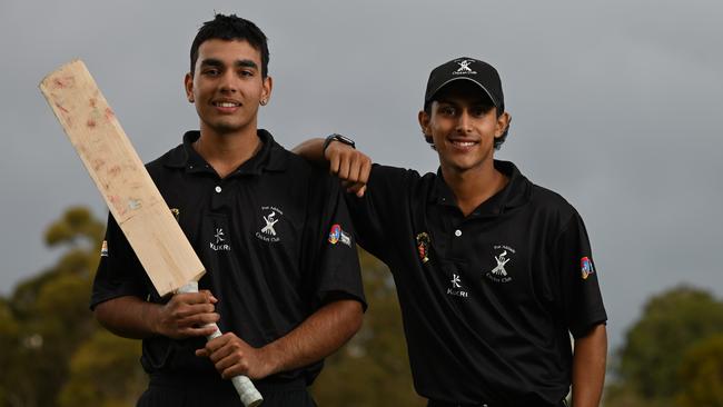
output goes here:
[{"label": "blurred yellow-green tree left of the man holding the bat", "polygon": [[87,208],[68,209],[44,236],[49,247],[65,250],[58,262],[21,282],[0,307],[0,319],[14,324],[14,334],[2,335],[0,406],[56,405],[70,358],[98,329],[88,296],[102,232]]}]

